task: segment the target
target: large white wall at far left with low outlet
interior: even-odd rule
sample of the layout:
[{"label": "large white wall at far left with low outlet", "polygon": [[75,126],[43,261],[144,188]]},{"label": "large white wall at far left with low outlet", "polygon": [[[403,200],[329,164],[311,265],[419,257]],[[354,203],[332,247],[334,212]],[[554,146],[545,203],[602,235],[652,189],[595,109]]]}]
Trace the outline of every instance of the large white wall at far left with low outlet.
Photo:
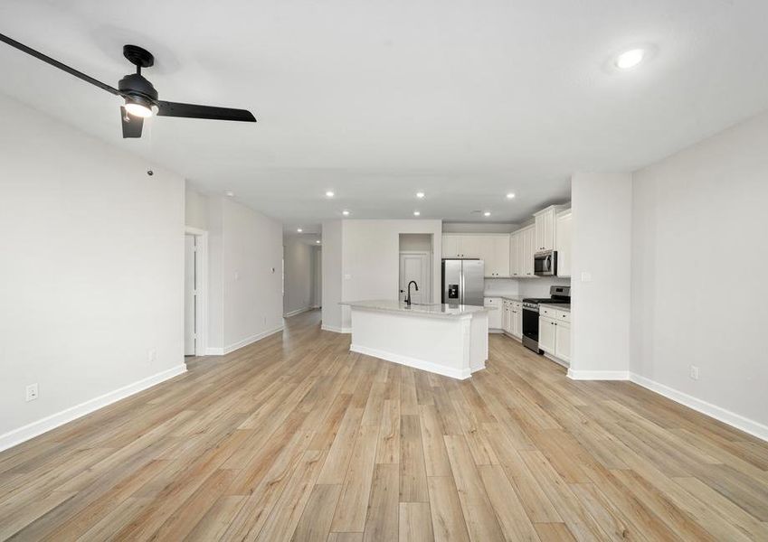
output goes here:
[{"label": "large white wall at far left with low outlet", "polygon": [[0,118],[4,447],[185,369],[185,186],[10,98]]}]

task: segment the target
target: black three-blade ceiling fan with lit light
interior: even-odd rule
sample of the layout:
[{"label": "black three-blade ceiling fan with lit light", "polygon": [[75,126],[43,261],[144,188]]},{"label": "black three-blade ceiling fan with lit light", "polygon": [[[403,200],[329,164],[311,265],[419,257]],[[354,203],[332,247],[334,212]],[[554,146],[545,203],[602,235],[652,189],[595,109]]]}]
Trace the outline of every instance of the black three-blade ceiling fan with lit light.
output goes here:
[{"label": "black three-blade ceiling fan with lit light", "polygon": [[24,43],[15,40],[0,33],[0,42],[5,42],[19,51],[24,51],[36,59],[47,62],[59,70],[82,79],[91,85],[125,99],[125,104],[120,106],[120,122],[123,126],[123,137],[141,137],[141,128],[144,126],[144,119],[157,115],[158,117],[185,117],[185,118],[208,118],[213,120],[236,120],[240,122],[256,122],[251,111],[246,109],[232,109],[230,107],[211,107],[197,106],[194,104],[182,104],[178,102],[169,102],[157,99],[157,91],[143,75],[142,68],[149,68],[155,64],[155,57],[149,51],[138,47],[137,45],[125,45],[123,47],[123,56],[136,66],[136,73],[129,73],[118,82],[118,88],[110,87],[100,80],[75,70],[56,61],[40,51],[35,51],[27,47]]}]

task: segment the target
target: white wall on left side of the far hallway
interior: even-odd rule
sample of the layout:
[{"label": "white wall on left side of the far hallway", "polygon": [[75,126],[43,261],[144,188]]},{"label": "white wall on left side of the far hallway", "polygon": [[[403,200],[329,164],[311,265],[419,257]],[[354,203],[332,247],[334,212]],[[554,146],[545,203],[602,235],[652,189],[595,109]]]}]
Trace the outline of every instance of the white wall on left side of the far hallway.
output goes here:
[{"label": "white wall on left side of the far hallway", "polygon": [[283,238],[285,285],[283,314],[298,313],[312,306],[314,247],[294,235]]}]

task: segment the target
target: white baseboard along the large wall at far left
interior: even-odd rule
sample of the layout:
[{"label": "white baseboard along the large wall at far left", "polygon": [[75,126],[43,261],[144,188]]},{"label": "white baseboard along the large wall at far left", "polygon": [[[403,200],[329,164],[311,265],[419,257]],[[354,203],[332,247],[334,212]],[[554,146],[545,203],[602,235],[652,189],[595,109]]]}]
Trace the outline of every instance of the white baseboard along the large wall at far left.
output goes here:
[{"label": "white baseboard along the large wall at far left", "polygon": [[22,444],[24,441],[27,441],[37,435],[43,435],[43,433],[47,433],[48,431],[51,431],[60,425],[67,424],[72,420],[76,420],[79,417],[90,414],[91,412],[99,410],[104,406],[111,405],[120,399],[132,396],[147,388],[152,388],[160,382],[163,382],[169,378],[174,378],[175,376],[185,372],[186,365],[181,363],[175,367],[172,367],[171,369],[166,369],[157,373],[156,375],[152,375],[151,377],[142,378],[133,384],[128,384],[128,386],[115,389],[114,391],[110,391],[109,393],[105,393],[99,397],[93,397],[92,399],[89,399],[80,405],[70,406],[61,412],[57,412],[51,416],[45,416],[44,418],[39,419],[31,424],[24,425],[23,427],[9,431],[8,433],[5,433],[5,435],[0,435],[0,452],[7,450],[16,444]]}]

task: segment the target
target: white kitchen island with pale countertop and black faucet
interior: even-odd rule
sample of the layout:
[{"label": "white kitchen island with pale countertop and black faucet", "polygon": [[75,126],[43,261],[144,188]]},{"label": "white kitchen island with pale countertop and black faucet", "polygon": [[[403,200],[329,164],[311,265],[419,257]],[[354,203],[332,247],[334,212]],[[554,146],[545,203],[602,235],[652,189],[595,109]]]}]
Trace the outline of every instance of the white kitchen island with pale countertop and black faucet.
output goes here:
[{"label": "white kitchen island with pale countertop and black faucet", "polygon": [[349,350],[451,378],[469,378],[488,360],[488,307],[343,302],[352,312]]}]

